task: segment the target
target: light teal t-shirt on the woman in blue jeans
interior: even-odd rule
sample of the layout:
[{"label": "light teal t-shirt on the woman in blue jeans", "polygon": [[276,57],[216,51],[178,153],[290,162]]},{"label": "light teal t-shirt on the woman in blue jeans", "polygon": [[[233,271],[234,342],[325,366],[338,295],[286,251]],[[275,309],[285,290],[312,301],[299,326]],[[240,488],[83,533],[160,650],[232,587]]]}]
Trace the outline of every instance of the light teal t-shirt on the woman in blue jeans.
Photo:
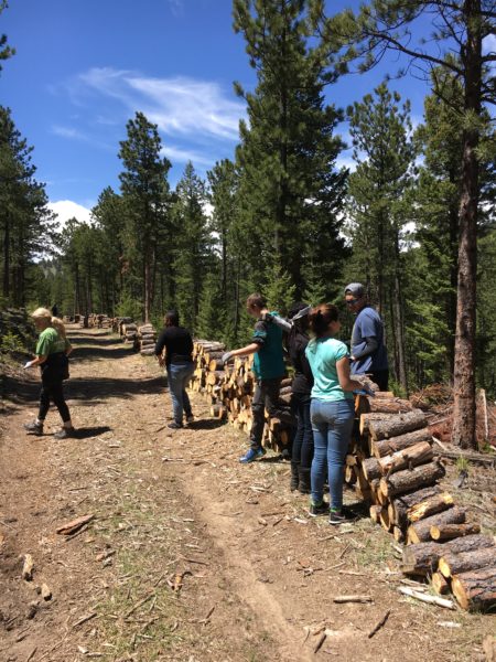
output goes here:
[{"label": "light teal t-shirt on the woman in blue jeans", "polygon": [[336,362],[349,355],[344,342],[335,338],[314,338],[306,345],[305,354],[313,374],[312,397],[330,403],[353,399],[353,393],[343,391],[337,377]]}]

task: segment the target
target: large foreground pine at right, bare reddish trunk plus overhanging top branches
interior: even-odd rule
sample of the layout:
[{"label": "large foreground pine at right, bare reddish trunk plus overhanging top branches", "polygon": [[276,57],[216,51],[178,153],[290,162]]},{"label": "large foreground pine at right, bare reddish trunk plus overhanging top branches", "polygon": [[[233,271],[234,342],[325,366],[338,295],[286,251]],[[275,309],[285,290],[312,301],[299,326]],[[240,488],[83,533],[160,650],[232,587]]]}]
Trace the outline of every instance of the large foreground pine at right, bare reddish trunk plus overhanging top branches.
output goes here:
[{"label": "large foreground pine at right, bare reddish trunk plus overhanging top branches", "polygon": [[[359,61],[368,71],[385,51],[400,52],[409,68],[428,77],[433,67],[452,74],[463,89],[463,149],[459,201],[459,274],[454,357],[454,426],[452,440],[462,447],[475,440],[476,244],[479,182],[479,141],[484,104],[496,102],[494,52],[483,53],[483,40],[494,33],[494,0],[370,0],[352,10],[323,18],[324,0],[312,0],[312,17],[327,41],[332,72],[342,74]],[[414,24],[428,19],[430,40],[416,43]],[[420,34],[421,30],[418,31]],[[403,72],[405,73],[405,72]],[[434,77],[434,94],[444,98],[445,75]]]}]

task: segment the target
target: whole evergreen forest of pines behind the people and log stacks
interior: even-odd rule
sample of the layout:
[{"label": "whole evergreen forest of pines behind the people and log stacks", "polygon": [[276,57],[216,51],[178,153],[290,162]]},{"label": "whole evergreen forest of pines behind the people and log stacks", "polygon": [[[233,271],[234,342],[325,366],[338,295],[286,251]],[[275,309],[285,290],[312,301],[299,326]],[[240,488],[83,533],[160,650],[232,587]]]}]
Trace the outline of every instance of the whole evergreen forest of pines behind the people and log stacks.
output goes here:
[{"label": "whole evergreen forest of pines behind the people and log stacks", "polygon": [[[385,320],[395,392],[451,384],[454,441],[471,445],[476,389],[496,396],[496,54],[483,47],[496,2],[332,6],[234,0],[257,84],[234,82],[246,119],[233,158],[205,178],[190,162],[173,186],[159,129],[138,111],[116,145],[119,188],[101,182],[89,224],[57,231],[35,146],[1,106],[0,303],[56,302],[64,314],[157,328],[175,308],[196,338],[235,348],[250,337],[254,291],[282,313],[300,300],[336,303],[347,340],[344,286],[360,281]],[[430,40],[412,45],[425,15]],[[14,45],[0,36],[3,67]],[[332,100],[341,77],[367,76],[388,50],[405,71],[347,108]],[[420,125],[396,75],[429,81]],[[349,169],[337,166],[346,147]]]}]

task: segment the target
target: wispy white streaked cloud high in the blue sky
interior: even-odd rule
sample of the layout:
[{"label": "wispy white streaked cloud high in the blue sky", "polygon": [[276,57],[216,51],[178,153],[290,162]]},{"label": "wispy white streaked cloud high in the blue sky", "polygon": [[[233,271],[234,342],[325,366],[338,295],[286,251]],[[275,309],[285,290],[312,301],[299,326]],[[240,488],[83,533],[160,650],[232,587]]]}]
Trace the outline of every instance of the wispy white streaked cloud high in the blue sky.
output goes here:
[{"label": "wispy white streaked cloud high in the blue sky", "polygon": [[166,135],[238,139],[245,105],[229,98],[218,83],[183,76],[151,78],[111,67],[91,68],[79,81],[133,111],[141,109]]}]

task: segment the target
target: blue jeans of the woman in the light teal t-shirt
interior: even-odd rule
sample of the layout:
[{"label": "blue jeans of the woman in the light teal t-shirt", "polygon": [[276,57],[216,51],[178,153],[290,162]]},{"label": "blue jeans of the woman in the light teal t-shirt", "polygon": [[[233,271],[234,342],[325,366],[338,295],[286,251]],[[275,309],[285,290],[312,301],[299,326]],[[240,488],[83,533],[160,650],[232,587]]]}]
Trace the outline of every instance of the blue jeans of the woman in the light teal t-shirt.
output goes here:
[{"label": "blue jeans of the woman in the light teal t-shirt", "polygon": [[323,500],[327,461],[331,508],[341,510],[344,466],[355,418],[355,403],[353,398],[331,403],[312,398],[310,416],[315,449],[311,471],[312,501],[321,503]]}]

